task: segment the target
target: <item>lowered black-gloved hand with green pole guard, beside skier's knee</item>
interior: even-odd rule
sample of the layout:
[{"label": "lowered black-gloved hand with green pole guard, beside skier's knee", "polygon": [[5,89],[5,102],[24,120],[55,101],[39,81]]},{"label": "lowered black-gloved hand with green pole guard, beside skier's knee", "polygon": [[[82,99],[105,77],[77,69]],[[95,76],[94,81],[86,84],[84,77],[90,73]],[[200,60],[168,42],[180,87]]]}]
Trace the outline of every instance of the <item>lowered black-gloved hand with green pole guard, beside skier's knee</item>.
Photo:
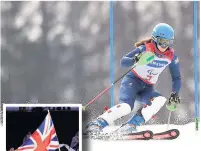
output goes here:
[{"label": "lowered black-gloved hand with green pole guard, beside skier's knee", "polygon": [[168,102],[166,104],[166,108],[169,110],[169,111],[175,111],[177,110],[177,104],[180,103],[180,96],[178,93],[176,92],[172,92],[170,98],[168,99]]}]

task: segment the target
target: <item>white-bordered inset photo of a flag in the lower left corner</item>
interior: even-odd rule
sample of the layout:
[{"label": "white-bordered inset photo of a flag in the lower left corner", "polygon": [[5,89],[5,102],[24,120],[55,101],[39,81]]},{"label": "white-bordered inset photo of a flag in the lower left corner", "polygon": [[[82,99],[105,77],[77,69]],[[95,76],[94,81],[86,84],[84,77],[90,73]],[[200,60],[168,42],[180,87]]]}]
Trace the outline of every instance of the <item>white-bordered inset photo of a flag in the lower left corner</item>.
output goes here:
[{"label": "white-bordered inset photo of a flag in the lower left corner", "polygon": [[7,151],[81,151],[81,105],[4,104]]}]

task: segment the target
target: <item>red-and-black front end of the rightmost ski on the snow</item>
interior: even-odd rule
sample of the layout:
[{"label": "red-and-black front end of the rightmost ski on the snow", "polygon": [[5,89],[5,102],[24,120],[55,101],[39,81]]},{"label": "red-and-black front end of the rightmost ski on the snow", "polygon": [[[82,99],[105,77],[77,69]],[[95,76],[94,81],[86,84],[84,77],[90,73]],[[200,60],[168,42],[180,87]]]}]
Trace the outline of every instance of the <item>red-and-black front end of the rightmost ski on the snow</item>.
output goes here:
[{"label": "red-and-black front end of the rightmost ski on the snow", "polygon": [[152,139],[154,140],[172,140],[179,136],[180,132],[177,129],[171,129],[161,133],[154,133]]}]

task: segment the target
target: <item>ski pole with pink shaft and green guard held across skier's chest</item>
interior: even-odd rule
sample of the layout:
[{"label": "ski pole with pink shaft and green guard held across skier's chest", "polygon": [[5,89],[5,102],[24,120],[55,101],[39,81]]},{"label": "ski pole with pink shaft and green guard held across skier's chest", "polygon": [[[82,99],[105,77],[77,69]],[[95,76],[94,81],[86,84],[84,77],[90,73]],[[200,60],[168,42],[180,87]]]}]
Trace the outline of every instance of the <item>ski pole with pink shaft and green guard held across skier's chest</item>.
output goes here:
[{"label": "ski pole with pink shaft and green guard held across skier's chest", "polygon": [[[138,57],[138,56],[136,56]],[[109,85],[107,88],[105,88],[102,92],[100,92],[95,98],[93,98],[91,101],[89,101],[85,106],[82,107],[83,110],[86,109],[86,107],[90,104],[92,104],[94,101],[96,101],[98,98],[100,98],[105,92],[107,92],[113,85],[115,85],[120,79],[122,79],[128,72],[130,72],[133,68],[135,68],[138,65],[145,65],[149,64],[154,60],[154,54],[152,52],[146,52],[144,54],[140,54],[140,59],[134,64],[134,66],[129,69],[126,73],[124,73],[122,76],[120,76],[117,80],[115,80],[111,85]],[[136,61],[136,60],[135,60]]]}]

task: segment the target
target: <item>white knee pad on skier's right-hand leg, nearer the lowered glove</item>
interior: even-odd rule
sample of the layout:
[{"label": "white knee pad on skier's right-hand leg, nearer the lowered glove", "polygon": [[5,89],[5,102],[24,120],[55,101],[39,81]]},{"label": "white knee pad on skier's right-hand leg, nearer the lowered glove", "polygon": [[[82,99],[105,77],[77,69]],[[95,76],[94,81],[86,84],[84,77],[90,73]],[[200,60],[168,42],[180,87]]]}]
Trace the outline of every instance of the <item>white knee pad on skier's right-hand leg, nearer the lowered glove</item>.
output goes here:
[{"label": "white knee pad on skier's right-hand leg, nearer the lowered glove", "polygon": [[153,115],[155,115],[165,104],[166,98],[158,96],[152,100],[152,104],[146,108],[142,108],[141,114],[145,119],[145,122],[149,121]]}]

